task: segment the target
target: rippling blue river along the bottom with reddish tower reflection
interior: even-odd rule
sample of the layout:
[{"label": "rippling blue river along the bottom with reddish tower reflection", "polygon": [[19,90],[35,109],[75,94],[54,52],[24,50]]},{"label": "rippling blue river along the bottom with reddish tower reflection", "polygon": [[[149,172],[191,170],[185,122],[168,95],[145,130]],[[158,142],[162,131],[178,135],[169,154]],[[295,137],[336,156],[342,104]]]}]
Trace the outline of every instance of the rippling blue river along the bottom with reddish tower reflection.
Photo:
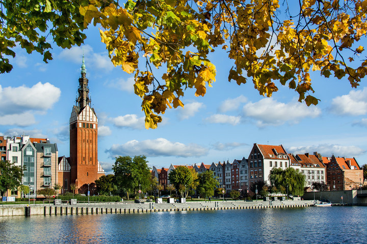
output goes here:
[{"label": "rippling blue river along the bottom with reddish tower reflection", "polygon": [[0,243],[367,243],[367,207],[0,217]]}]

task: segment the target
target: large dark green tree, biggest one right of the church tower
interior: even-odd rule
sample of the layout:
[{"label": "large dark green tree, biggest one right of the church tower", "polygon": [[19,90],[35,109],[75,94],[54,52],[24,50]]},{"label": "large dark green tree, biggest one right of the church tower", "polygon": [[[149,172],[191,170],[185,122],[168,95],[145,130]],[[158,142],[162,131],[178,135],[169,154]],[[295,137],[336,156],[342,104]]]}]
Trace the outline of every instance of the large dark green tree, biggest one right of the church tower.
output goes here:
[{"label": "large dark green tree, biggest one right of the church tower", "polygon": [[129,191],[136,194],[139,187],[143,192],[149,189],[151,174],[147,163],[144,155],[135,156],[133,159],[129,156],[116,158],[112,167],[116,177],[116,185],[119,190],[126,191],[127,199],[129,199]]}]

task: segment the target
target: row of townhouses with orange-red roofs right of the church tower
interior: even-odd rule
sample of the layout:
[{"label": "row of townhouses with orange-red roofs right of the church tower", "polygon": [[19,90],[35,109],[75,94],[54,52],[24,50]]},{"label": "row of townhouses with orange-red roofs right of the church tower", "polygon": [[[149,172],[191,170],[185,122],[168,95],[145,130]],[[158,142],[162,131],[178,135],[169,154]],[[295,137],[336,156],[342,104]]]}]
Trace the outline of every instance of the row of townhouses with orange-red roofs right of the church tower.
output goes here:
[{"label": "row of townhouses with orange-red roofs right of the church tower", "polygon": [[[169,184],[168,175],[179,165],[156,169],[152,175],[159,179],[163,186]],[[248,159],[234,160],[232,163],[218,162],[211,165],[201,163],[192,166],[197,173],[213,171],[218,180],[218,187],[227,192],[231,190],[246,191],[259,181],[270,184],[269,175],[273,168],[293,167],[305,175],[305,187],[313,182],[324,182],[330,190],[350,190],[362,184],[363,170],[355,158],[322,157],[317,152],[311,154],[289,154],[282,145],[261,145],[254,143]]]}]

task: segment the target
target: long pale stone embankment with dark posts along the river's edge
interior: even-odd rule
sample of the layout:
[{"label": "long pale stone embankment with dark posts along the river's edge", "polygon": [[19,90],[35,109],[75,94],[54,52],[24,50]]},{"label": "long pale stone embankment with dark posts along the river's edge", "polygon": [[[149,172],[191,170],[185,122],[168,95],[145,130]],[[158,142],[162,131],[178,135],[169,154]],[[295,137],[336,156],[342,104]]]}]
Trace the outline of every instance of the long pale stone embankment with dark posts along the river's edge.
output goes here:
[{"label": "long pale stone embankment with dark posts along the river's edge", "polygon": [[95,214],[129,214],[138,212],[160,211],[200,211],[223,209],[286,208],[308,207],[312,201],[195,201],[186,203],[90,203],[76,205],[60,204],[25,204],[0,205],[0,216],[33,216],[33,215],[95,215]]}]

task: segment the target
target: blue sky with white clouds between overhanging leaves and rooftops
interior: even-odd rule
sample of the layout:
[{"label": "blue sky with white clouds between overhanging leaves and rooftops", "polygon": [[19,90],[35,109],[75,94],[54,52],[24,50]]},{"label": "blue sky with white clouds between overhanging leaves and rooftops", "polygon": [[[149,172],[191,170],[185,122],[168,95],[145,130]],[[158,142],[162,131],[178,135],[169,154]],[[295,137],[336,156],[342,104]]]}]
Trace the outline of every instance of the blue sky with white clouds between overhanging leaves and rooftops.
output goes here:
[{"label": "blue sky with white clouds between overhanging leaves and rooftops", "polygon": [[[75,105],[83,52],[92,107],[98,117],[98,160],[106,173],[118,156],[145,155],[149,167],[212,164],[248,158],[254,143],[280,145],[288,153],[355,157],[367,163],[367,84],[352,88],[347,78],[311,74],[307,107],[298,93],[278,85],[271,98],[260,96],[253,83],[228,82],[233,63],[223,50],[209,58],[216,65],[213,87],[204,97],[188,89],[185,108],[168,109],[157,129],[146,130],[141,99],[134,94],[134,75],[114,67],[99,31],[90,27],[81,47],[53,45],[53,60],[15,48],[14,68],[0,75],[0,135],[30,135],[57,143],[69,157],[69,118]],[[160,77],[161,71],[156,71]],[[161,72],[162,73],[162,72]]]}]

